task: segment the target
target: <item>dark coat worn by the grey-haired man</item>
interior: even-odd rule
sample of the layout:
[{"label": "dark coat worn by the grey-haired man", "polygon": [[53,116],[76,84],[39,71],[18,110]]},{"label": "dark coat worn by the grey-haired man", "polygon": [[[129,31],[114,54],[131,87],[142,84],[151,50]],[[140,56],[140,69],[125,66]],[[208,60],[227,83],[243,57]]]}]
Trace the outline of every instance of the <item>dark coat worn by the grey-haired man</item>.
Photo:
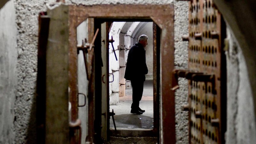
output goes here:
[{"label": "dark coat worn by the grey-haired man", "polygon": [[137,42],[128,53],[124,78],[127,80],[145,81],[146,74],[148,74],[146,50],[142,44]]}]

